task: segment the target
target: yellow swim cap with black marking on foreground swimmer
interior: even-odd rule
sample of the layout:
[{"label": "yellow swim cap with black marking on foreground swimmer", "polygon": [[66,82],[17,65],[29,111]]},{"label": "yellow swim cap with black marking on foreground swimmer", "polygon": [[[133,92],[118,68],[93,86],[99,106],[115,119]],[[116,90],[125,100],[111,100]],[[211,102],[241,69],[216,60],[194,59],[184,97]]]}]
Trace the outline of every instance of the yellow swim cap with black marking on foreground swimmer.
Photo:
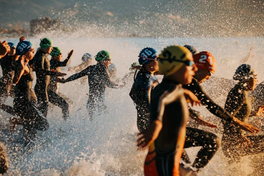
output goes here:
[{"label": "yellow swim cap with black marking on foreground swimmer", "polygon": [[192,53],[183,46],[168,46],[161,51],[158,63],[160,75],[169,76],[175,73],[182,67],[184,61],[192,58]]}]

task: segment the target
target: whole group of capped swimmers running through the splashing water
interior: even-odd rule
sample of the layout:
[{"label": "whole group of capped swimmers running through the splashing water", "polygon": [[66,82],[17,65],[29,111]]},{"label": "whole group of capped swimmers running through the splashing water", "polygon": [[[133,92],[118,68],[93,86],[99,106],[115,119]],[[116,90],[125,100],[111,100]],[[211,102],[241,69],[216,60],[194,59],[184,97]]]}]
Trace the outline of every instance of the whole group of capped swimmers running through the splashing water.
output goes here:
[{"label": "whole group of capped swimmers running through the splashing water", "polygon": [[[49,101],[62,109],[65,121],[69,117],[69,105],[65,96],[58,92],[58,82],[66,83],[88,76],[87,110],[91,121],[96,108],[100,108],[100,112],[106,109],[106,86],[124,86],[125,82],[122,85],[111,82],[111,57],[105,50],[99,51],[95,56],[96,65],[92,65],[92,56],[86,53],[82,57],[84,62],[81,65],[69,69],[77,70],[77,73],[64,79],[59,78],[66,75],[61,72],[60,67],[70,62],[73,50],[62,61],[61,50],[53,47],[48,38],[40,40],[40,48],[36,53],[32,43],[26,41],[24,36],[19,40],[16,47],[7,42],[0,45],[0,59],[7,62],[6,66],[1,64],[2,69],[6,69],[3,77],[8,77],[5,78],[6,82],[2,81],[6,86],[1,85],[3,91],[0,108],[20,117],[10,118],[10,132],[13,132],[16,125],[23,126],[27,132],[24,143],[27,154],[32,152],[37,130],[45,131],[49,128],[46,120]],[[51,60],[48,55],[51,55]],[[172,45],[165,47],[158,54],[155,49],[146,47],[139,53],[138,62],[139,64],[135,62],[131,65],[133,71],[125,75],[124,79],[131,74],[134,77],[129,95],[137,110],[137,126],[140,131],[138,148],[148,147],[145,175],[196,175],[219,149],[221,141],[215,134],[191,126],[186,127],[189,117],[201,125],[217,127],[204,121],[201,114],[193,110],[188,103],[192,106],[205,105],[212,114],[221,118],[224,124],[222,148],[227,157],[232,157],[231,161],[243,155],[263,151],[262,147],[254,145],[255,141],[262,140],[262,136],[245,135],[245,131],[259,131],[248,124],[247,119],[250,115],[261,115],[264,108],[263,101],[258,98],[258,94],[261,94],[258,90],[252,92],[254,102],[257,103],[251,112],[248,91],[253,91],[257,82],[251,65],[243,64],[238,67],[233,77],[237,85],[229,92],[226,106],[222,108],[214,103],[200,85],[216,70],[216,60],[210,52],[199,52],[190,45]],[[32,91],[33,71],[37,77],[35,93]],[[161,83],[155,75],[164,75]],[[12,83],[16,84],[14,88]],[[3,104],[7,95],[13,95],[13,107]],[[246,147],[237,152],[239,145]],[[180,165],[181,158],[185,163],[190,163],[184,148],[194,146],[202,148],[197,153],[192,168],[184,167],[184,163]],[[7,168],[7,162],[5,164]]]}]

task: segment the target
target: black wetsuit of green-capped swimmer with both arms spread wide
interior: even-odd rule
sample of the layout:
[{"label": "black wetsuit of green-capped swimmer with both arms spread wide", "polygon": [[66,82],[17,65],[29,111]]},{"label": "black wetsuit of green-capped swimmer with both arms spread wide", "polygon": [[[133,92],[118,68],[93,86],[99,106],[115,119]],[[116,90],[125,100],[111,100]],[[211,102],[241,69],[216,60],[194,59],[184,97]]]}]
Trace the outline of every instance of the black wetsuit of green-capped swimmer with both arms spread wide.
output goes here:
[{"label": "black wetsuit of green-capped swimmer with both arms spread wide", "polygon": [[92,120],[93,112],[96,108],[99,108],[100,111],[105,111],[106,109],[106,105],[104,103],[106,86],[110,88],[119,88],[119,85],[110,81],[107,67],[99,63],[97,65],[91,65],[81,72],[68,77],[66,82],[73,81],[87,75],[89,83],[89,99],[86,107],[90,120]]}]

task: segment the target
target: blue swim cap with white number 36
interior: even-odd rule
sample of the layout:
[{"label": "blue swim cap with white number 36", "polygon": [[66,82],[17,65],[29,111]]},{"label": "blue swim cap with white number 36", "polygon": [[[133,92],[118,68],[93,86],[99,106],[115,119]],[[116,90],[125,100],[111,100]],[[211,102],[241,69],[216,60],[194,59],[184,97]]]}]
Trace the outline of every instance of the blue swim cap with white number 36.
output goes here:
[{"label": "blue swim cap with white number 36", "polygon": [[139,64],[146,65],[155,60],[155,58],[158,57],[158,53],[155,49],[147,47],[141,50],[138,57]]}]

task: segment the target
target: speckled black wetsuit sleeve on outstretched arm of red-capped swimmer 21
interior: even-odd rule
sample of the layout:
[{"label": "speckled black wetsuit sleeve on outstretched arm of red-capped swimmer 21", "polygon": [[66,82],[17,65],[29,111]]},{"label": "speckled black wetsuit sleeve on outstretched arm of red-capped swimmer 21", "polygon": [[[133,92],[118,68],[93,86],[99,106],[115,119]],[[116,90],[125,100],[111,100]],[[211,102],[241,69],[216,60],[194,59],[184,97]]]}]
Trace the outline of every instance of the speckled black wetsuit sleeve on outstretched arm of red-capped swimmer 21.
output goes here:
[{"label": "speckled black wetsuit sleeve on outstretched arm of red-capped swimmer 21", "polygon": [[202,86],[197,80],[193,79],[192,83],[184,86],[185,89],[192,91],[199,100],[201,100],[202,105],[204,105],[212,114],[218,116],[226,121],[231,121],[233,117],[224,108],[216,104],[204,91]]}]

